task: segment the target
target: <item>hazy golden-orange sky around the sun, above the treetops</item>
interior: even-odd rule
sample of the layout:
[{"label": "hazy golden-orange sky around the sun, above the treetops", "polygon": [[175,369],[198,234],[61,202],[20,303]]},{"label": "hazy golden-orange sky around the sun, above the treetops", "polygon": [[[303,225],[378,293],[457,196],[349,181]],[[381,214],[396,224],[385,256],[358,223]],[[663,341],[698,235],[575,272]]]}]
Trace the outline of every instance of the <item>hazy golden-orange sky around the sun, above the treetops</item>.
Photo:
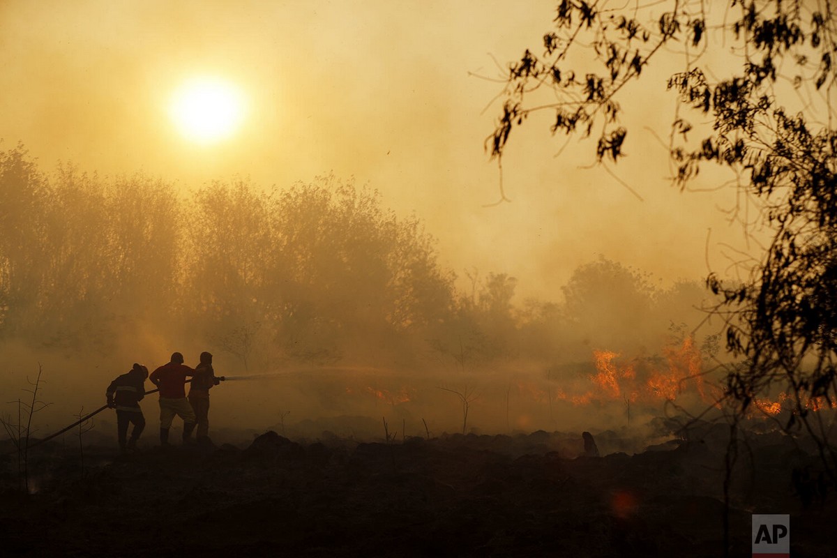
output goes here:
[{"label": "hazy golden-orange sky around the sun, above the treetops", "polygon": [[[525,5],[525,9],[521,8]],[[599,254],[670,281],[723,272],[721,241],[742,236],[716,195],[665,180],[674,104],[665,77],[626,90],[631,136],[619,176],[546,121],[515,132],[504,159],[510,203],[483,150],[501,69],[537,47],[554,2],[178,1],[0,3],[0,147],[23,142],[47,171],[69,161],[100,175],[144,171],[198,188],[249,176],[290,186],[333,171],[415,212],[458,274],[508,273],[521,296],[559,299]],[[193,75],[229,80],[249,99],[238,134],[214,146],[178,135],[173,91]],[[629,105],[634,100],[636,105]],[[486,107],[488,107],[487,110]],[[549,118],[548,115],[544,115]]]}]

